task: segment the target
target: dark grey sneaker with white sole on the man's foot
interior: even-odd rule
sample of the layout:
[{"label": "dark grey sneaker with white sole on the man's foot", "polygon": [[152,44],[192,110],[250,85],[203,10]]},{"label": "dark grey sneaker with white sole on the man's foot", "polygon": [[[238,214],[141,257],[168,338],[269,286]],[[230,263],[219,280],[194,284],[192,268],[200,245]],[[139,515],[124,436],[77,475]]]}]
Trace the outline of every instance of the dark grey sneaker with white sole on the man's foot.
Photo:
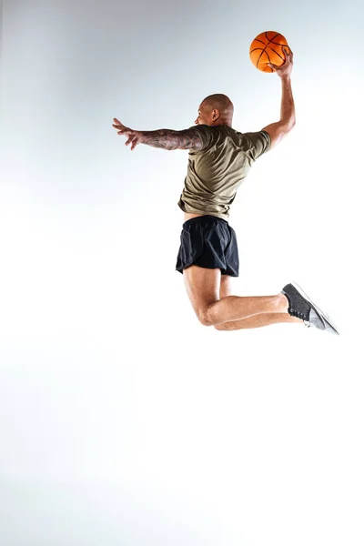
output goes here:
[{"label": "dark grey sneaker with white sole on the man's foot", "polygon": [[329,330],[339,336],[339,331],[329,318],[329,315],[321,311],[318,306],[308,298],[308,295],[293,282],[283,288],[282,293],[288,298],[288,313],[304,321],[307,326]]}]

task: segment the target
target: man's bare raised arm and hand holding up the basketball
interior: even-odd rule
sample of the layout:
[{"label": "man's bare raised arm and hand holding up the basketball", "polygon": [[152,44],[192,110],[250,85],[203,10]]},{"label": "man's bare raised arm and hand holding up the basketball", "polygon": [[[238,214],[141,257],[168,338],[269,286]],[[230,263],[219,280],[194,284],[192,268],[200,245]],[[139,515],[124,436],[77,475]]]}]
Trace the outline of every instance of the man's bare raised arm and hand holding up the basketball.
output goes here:
[{"label": "man's bare raised arm and hand holding up the basketball", "polygon": [[283,48],[286,60],[282,66],[269,65],[275,69],[282,83],[282,98],[280,103],[280,119],[276,123],[263,127],[270,136],[270,148],[276,146],[283,136],[288,135],[296,123],[295,102],[292,95],[292,87],[290,84],[290,75],[293,66],[293,53],[287,47],[287,51]]}]

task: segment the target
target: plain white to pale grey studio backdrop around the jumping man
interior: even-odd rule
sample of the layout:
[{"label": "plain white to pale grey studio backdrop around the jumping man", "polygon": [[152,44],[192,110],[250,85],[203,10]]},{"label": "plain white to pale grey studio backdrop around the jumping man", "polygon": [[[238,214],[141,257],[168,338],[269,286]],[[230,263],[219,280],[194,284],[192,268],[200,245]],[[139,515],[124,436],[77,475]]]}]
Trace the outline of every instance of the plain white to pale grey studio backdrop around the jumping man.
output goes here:
[{"label": "plain white to pale grey studio backdrop around the jumping man", "polygon": [[[362,546],[362,3],[3,0],[0,542]],[[297,126],[239,189],[238,295],[296,280],[341,335],[202,327],[175,271],[187,152],[116,135]]]}]

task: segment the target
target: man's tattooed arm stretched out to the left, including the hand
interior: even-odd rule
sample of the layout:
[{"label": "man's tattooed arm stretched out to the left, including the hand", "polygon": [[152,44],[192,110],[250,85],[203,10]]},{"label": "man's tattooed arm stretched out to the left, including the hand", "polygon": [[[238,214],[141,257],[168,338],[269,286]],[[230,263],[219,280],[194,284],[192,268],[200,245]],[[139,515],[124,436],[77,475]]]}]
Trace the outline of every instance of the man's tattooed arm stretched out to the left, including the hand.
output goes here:
[{"label": "man's tattooed arm stretched out to the left, including the hand", "polygon": [[113,127],[118,135],[127,136],[126,146],[131,144],[134,150],[137,144],[147,144],[152,147],[160,147],[165,150],[200,150],[202,148],[201,137],[193,129],[173,131],[172,129],[159,129],[157,131],[135,131],[114,117]]}]

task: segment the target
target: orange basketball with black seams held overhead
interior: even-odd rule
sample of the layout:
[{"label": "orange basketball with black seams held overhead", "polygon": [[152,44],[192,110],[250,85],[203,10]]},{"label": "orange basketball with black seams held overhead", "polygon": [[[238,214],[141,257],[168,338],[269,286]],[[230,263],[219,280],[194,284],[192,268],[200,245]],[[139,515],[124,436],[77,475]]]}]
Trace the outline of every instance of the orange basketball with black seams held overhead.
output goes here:
[{"label": "orange basketball with black seams held overhead", "polygon": [[288,45],[283,35],[273,30],[262,32],[254,38],[250,45],[249,56],[251,62],[262,72],[274,72],[274,69],[267,66],[267,64],[283,65],[285,56],[282,45]]}]

